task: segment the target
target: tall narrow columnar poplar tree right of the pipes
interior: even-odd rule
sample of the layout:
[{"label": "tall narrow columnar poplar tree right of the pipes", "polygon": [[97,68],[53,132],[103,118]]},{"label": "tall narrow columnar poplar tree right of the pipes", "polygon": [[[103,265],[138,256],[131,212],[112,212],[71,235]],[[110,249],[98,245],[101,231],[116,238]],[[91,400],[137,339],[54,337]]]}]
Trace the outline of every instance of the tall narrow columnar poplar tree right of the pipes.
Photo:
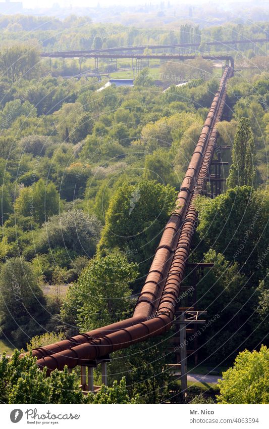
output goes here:
[{"label": "tall narrow columnar poplar tree right of the pipes", "polygon": [[232,165],[227,186],[253,186],[255,181],[254,136],[250,128],[250,120],[241,118],[235,134]]}]

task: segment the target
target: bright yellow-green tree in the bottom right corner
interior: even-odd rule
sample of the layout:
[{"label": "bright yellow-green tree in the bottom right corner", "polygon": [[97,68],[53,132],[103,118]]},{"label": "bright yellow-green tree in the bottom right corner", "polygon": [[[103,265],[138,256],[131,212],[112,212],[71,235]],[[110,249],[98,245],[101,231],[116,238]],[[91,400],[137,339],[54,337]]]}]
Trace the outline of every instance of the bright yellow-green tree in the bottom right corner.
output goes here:
[{"label": "bright yellow-green tree in the bottom right corner", "polygon": [[239,353],[234,366],[219,380],[218,404],[269,403],[269,350]]}]

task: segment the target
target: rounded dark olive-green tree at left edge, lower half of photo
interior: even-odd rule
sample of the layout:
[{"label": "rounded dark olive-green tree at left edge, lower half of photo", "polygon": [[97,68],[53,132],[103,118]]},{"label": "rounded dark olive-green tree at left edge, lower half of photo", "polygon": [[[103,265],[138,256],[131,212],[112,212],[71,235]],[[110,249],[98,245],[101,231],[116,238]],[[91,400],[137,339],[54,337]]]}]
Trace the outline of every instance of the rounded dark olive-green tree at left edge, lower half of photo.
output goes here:
[{"label": "rounded dark olive-green tree at left edge, lower half of photo", "polygon": [[42,330],[47,319],[45,298],[30,263],[10,258],[0,275],[0,320],[5,335],[19,345]]}]

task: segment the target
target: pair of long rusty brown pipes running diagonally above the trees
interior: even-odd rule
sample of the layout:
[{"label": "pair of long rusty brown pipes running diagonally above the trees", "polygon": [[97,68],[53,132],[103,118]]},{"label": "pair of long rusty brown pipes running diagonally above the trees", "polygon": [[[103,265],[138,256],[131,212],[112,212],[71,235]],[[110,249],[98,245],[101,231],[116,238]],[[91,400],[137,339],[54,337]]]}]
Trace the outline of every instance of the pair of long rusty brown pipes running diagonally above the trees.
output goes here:
[{"label": "pair of long rusty brown pipes running diagonally above the trees", "polygon": [[170,329],[174,319],[180,287],[191,250],[197,221],[194,201],[203,190],[214,150],[226,99],[226,84],[232,75],[226,67],[200,137],[182,181],[176,209],[169,219],[154,259],[138,297],[134,315],[75,337],[32,351],[40,368],[63,369],[86,364],[116,350],[130,347]]}]

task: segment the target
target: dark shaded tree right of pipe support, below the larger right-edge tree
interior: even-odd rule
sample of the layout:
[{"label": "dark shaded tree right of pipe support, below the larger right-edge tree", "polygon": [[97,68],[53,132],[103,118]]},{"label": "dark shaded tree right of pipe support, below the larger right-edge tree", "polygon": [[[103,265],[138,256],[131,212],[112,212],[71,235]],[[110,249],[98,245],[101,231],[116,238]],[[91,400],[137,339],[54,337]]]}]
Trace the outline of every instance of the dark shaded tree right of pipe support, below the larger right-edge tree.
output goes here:
[{"label": "dark shaded tree right of pipe support, below the larger right-edge tree", "polygon": [[206,308],[210,321],[210,326],[203,331],[200,345],[211,359],[221,361],[240,351],[245,338],[249,343],[255,343],[257,339],[257,333],[252,333],[253,325],[249,318],[256,302],[255,289],[236,262],[230,263],[212,249],[204,255],[204,262],[211,262],[214,266],[201,278],[197,291],[199,306]]}]

